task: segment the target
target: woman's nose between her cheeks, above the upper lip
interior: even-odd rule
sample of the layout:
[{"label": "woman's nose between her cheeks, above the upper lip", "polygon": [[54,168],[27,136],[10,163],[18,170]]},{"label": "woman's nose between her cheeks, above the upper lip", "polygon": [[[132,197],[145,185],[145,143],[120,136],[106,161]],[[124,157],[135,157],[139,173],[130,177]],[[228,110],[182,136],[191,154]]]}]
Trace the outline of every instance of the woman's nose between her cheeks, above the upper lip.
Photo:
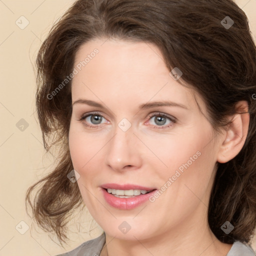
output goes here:
[{"label": "woman's nose between her cheeks, above the upper lip", "polygon": [[127,131],[117,127],[107,143],[106,164],[115,171],[139,168],[142,162],[139,142],[131,127]]}]

